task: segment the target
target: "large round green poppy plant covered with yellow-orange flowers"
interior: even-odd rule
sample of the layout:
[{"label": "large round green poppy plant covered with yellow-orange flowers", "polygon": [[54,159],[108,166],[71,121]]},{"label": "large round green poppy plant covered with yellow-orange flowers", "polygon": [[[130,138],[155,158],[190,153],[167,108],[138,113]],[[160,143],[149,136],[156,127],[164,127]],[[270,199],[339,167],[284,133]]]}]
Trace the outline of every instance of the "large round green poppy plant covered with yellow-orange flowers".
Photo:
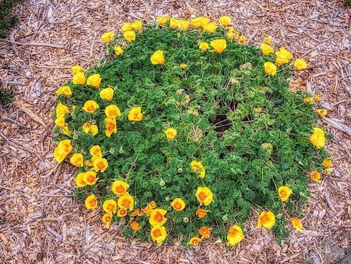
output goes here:
[{"label": "large round green poppy plant covered with yellow-orange flowers", "polygon": [[211,233],[233,245],[251,209],[286,237],[326,158],[315,105],[289,91],[289,63],[265,69],[279,54],[227,27],[183,29],[102,37],[107,58],[73,67],[58,90],[55,159],[79,167],[75,194],[125,237],[197,245]]}]

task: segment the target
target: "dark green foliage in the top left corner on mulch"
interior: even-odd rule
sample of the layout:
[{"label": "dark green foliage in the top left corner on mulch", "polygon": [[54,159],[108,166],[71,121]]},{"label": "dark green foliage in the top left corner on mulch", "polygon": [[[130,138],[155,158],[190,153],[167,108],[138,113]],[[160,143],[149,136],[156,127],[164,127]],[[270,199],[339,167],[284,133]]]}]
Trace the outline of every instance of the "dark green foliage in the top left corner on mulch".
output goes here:
[{"label": "dark green foliage in the top left corner on mulch", "polygon": [[8,15],[15,4],[20,3],[22,0],[1,0],[0,1],[0,38],[6,37],[6,30],[13,27],[18,18]]}]

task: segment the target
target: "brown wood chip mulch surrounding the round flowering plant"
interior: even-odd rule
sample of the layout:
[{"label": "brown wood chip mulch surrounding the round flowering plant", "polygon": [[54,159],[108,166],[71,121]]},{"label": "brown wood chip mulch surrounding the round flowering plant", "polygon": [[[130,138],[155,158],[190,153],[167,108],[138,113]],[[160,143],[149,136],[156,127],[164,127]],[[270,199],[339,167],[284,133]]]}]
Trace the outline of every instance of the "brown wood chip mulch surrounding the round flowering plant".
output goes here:
[{"label": "brown wood chip mulch surrounding the round flowering plant", "polygon": [[[351,30],[342,1],[27,0],[14,12],[18,28],[0,40],[0,80],[18,86],[13,104],[0,108],[1,263],[333,263],[343,256],[340,263],[351,262]],[[328,115],[321,124],[333,136],[326,148],[335,152],[336,169],[309,184],[305,229],[290,229],[284,246],[256,228],[254,213],[243,242],[229,250],[215,238],[191,249],[132,243],[119,225],[102,229],[98,212],[74,198],[72,166],[53,159],[54,93],[72,77],[72,65],[87,69],[102,58],[102,33],[159,15],[230,15],[247,44],[268,35],[309,63],[296,79],[322,94]]]}]

